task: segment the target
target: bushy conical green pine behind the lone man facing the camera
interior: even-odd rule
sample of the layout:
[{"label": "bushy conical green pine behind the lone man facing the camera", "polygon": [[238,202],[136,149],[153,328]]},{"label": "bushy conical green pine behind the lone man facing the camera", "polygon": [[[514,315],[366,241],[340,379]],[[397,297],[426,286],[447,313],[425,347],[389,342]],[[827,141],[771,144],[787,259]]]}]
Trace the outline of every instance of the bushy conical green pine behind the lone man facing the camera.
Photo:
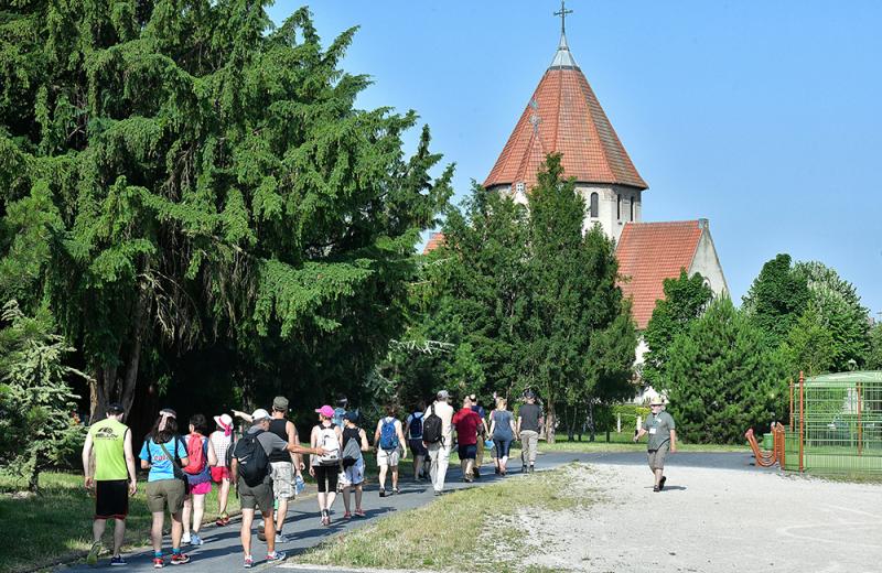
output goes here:
[{"label": "bushy conical green pine behind the lone man facing the camera", "polygon": [[668,409],[688,442],[742,443],[746,429],[784,419],[781,359],[728,298],[711,302],[669,356]]}]

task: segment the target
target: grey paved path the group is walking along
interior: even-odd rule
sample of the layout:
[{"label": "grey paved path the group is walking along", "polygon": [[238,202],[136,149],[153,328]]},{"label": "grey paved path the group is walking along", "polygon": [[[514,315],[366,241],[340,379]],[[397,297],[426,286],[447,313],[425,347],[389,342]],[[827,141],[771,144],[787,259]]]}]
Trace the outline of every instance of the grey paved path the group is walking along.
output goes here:
[{"label": "grey paved path the group is walking along", "polygon": [[[752,460],[752,456],[747,453],[677,453],[668,457],[667,465],[670,468],[669,473],[676,473],[677,467],[749,469],[756,472],[757,468],[751,465]],[[549,453],[540,455],[536,466],[538,469],[549,469],[573,461],[611,465],[644,465],[646,463],[646,454],[638,452],[589,454]],[[515,472],[510,473],[509,478],[516,476],[518,473],[517,463],[519,461],[513,460],[513,462],[510,466],[515,468]],[[483,471],[484,477],[475,483],[477,486],[498,482],[498,477],[493,475],[492,465],[485,465]],[[488,476],[487,472],[490,472]],[[646,473],[648,476],[649,471],[647,469]],[[447,488],[451,490],[463,487],[475,487],[462,483],[461,477],[462,474],[459,467],[451,466],[448,471]],[[290,558],[318,545],[331,536],[363,527],[391,511],[412,509],[427,505],[432,499],[432,489],[428,484],[401,484],[400,495],[386,498],[380,498],[377,495],[376,484],[370,484],[365,490],[362,504],[367,512],[367,518],[343,521],[341,519],[343,516],[343,501],[337,499],[334,504],[334,515],[332,516],[334,522],[330,528],[321,526],[314,497],[299,500],[291,505],[288,510],[288,519],[286,520],[284,532],[292,538],[292,540],[288,543],[278,544],[277,548],[288,553]],[[243,550],[239,543],[238,519],[225,528],[216,528],[214,526],[203,527],[202,534],[205,544],[200,548],[185,548],[184,551],[192,558],[192,561],[183,567],[174,567],[175,571],[180,569],[184,573],[219,573],[224,571],[241,570]],[[163,542],[163,548],[166,552],[171,551],[169,549],[170,545],[170,541],[166,537]],[[252,553],[255,559],[259,560],[255,565],[255,570],[272,569],[269,567],[267,563],[262,562],[262,559],[266,556],[266,545],[257,539],[257,536],[252,539]],[[127,555],[127,560],[129,566],[122,571],[152,571],[152,550]],[[170,565],[168,564],[166,558],[166,567]],[[111,567],[106,558],[99,561],[98,567],[89,567],[84,564],[61,567],[64,572],[90,572],[96,569],[109,570]],[[121,567],[117,567],[117,570],[121,570]]]}]

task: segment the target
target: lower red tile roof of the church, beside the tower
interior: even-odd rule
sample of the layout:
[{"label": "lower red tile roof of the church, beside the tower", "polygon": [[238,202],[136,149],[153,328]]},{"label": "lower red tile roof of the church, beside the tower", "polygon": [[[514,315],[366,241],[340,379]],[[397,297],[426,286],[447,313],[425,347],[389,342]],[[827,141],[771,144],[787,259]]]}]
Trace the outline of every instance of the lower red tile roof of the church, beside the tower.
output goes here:
[{"label": "lower red tile roof of the church, beside the tower", "polygon": [[697,220],[625,224],[615,256],[637,328],[646,328],[656,301],[665,298],[665,279],[679,277],[680,269],[689,271],[702,233]]}]

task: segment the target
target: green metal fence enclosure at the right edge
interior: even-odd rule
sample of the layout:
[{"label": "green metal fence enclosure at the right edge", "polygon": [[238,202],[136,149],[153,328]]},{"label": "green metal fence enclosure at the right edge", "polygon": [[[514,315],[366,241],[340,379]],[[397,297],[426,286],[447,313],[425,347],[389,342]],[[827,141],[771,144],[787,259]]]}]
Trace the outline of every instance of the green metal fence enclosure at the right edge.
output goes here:
[{"label": "green metal fence enclosure at the right edge", "polygon": [[785,469],[882,473],[882,371],[800,381],[790,411]]}]

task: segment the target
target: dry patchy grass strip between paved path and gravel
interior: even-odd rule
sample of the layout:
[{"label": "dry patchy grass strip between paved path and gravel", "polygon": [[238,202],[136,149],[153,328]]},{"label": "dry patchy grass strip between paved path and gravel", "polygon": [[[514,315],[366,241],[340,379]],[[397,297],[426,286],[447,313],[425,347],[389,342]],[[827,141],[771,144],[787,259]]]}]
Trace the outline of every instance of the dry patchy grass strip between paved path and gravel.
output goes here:
[{"label": "dry patchy grass strip between paved path and gravel", "polygon": [[[503,523],[510,522],[521,509],[561,511],[588,506],[592,497],[571,490],[570,484],[573,473],[589,471],[584,465],[571,464],[553,472],[458,490],[426,507],[396,512],[332,538],[298,561],[378,569],[548,571],[518,564],[526,556],[523,533]],[[491,554],[481,548],[501,551]]]}]

